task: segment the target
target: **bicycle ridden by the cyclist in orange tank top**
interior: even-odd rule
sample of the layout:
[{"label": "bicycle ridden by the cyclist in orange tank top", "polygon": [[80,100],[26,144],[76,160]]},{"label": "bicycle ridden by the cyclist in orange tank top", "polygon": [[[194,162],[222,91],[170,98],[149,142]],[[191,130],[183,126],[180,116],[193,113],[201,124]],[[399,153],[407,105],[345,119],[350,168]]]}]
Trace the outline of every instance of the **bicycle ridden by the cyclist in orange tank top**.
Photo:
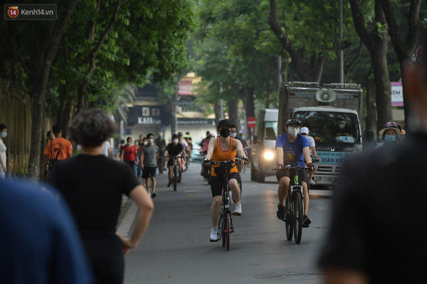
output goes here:
[{"label": "bicycle ridden by the cyclist in orange tank top", "polygon": [[218,218],[218,226],[216,232],[218,233],[218,241],[222,239],[222,246],[227,245],[227,250],[230,250],[230,234],[234,232],[233,218],[231,218],[231,201],[230,201],[230,188],[229,188],[229,171],[234,164],[240,163],[240,159],[236,158],[236,161],[224,161],[224,162],[212,162],[209,161],[209,165],[215,166],[220,165],[225,170],[225,174],[222,176],[222,203],[220,215]]}]

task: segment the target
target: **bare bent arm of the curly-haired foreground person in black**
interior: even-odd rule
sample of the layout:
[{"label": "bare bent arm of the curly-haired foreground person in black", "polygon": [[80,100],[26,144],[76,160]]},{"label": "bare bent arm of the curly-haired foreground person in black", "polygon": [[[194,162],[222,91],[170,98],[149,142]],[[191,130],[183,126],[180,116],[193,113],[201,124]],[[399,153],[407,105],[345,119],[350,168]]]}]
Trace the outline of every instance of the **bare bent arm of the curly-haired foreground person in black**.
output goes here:
[{"label": "bare bent arm of the curly-haired foreground person in black", "polygon": [[123,243],[123,252],[125,253],[129,252],[131,248],[136,248],[145,230],[147,230],[149,220],[152,219],[154,210],[152,198],[149,197],[144,186],[139,185],[132,189],[130,197],[134,199],[135,204],[138,206],[139,213],[134,233],[130,239],[121,237],[121,235],[117,233]]}]

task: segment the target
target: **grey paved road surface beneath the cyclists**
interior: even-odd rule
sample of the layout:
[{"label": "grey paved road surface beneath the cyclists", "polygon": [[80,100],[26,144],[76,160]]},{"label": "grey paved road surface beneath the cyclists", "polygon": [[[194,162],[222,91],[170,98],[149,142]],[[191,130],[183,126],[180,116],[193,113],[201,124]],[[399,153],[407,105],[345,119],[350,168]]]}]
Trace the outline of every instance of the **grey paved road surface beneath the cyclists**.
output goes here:
[{"label": "grey paved road surface beneath the cyclists", "polygon": [[[158,175],[152,221],[138,248],[125,256],[126,284],[322,282],[315,261],[327,232],[331,199],[311,199],[313,223],[297,245],[286,241],[284,222],[275,217],[275,177],[258,184],[250,182],[247,171],[242,175],[243,214],[233,217],[235,232],[227,252],[220,242],[209,242],[211,191],[200,176],[200,164],[191,164],[176,192],[166,187],[166,179]],[[125,204],[124,231],[132,224],[131,204]]]}]

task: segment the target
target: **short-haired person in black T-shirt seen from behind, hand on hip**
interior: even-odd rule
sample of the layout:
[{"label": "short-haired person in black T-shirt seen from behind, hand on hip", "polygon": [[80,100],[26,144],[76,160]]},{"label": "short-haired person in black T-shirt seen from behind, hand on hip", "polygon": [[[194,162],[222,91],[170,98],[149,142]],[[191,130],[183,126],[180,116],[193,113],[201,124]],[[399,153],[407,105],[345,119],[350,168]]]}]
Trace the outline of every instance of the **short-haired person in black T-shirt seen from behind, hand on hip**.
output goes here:
[{"label": "short-haired person in black T-shirt seen from behind, hand on hip", "polygon": [[[127,164],[103,155],[102,144],[115,129],[104,111],[87,109],[71,125],[70,138],[81,144],[82,153],[57,164],[48,182],[70,206],[97,283],[123,283],[123,252],[138,245],[152,216],[153,201]],[[130,239],[116,234],[123,193],[139,207]]]}]

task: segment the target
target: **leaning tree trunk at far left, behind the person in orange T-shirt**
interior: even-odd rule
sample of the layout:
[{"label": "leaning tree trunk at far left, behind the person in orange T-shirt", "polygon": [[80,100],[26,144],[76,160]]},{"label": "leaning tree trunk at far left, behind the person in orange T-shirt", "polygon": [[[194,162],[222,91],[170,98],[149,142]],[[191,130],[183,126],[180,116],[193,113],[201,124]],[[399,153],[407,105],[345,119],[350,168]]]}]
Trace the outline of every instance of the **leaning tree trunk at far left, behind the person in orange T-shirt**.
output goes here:
[{"label": "leaning tree trunk at far left, behind the person in orange T-shirt", "polygon": [[37,70],[34,70],[35,74],[40,74],[32,90],[33,94],[33,109],[32,109],[32,129],[31,129],[31,150],[28,162],[28,176],[32,179],[37,180],[40,176],[40,149],[41,142],[44,141],[41,131],[44,127],[45,118],[45,102],[46,102],[46,90],[48,87],[48,80],[52,63],[58,52],[59,43],[61,43],[62,35],[67,27],[68,21],[76,8],[79,0],[70,0],[68,3],[67,10],[61,21],[59,21],[54,29],[52,36],[50,36],[50,43],[45,45],[45,50],[42,50],[37,56],[43,58],[42,64],[37,66]]}]

